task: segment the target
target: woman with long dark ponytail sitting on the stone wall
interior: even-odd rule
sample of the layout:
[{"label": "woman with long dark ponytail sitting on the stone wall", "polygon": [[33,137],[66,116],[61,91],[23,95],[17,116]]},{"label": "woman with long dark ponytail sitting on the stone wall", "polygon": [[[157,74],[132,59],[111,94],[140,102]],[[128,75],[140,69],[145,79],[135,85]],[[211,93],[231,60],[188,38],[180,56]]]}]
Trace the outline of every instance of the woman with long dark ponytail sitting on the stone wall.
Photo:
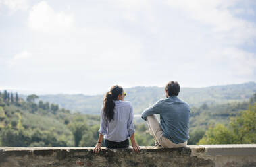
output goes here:
[{"label": "woman with long dark ponytail sitting on the stone wall", "polygon": [[105,95],[101,109],[99,139],[93,152],[98,153],[101,150],[103,137],[106,147],[112,149],[129,147],[130,137],[132,148],[135,152],[140,152],[134,137],[132,105],[124,101],[124,96],[126,93],[121,86],[112,86]]}]

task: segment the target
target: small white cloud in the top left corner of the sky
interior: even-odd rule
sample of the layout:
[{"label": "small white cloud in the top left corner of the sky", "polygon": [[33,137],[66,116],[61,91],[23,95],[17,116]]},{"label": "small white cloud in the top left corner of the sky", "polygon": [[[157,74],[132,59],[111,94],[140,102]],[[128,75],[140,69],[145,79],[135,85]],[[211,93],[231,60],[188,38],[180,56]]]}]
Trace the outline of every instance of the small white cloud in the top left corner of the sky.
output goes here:
[{"label": "small white cloud in the top left corner of the sky", "polygon": [[0,0],[0,7],[1,5],[6,5],[12,12],[18,10],[26,11],[28,9],[27,0]]}]

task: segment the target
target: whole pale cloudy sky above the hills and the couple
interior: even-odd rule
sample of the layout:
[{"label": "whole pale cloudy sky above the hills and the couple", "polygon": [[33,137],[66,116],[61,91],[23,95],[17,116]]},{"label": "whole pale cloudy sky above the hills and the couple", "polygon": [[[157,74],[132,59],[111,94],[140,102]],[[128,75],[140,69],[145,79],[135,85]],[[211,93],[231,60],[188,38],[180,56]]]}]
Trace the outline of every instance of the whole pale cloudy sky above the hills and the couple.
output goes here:
[{"label": "whole pale cloudy sky above the hills and the couple", "polygon": [[0,91],[256,81],[254,0],[0,0]]}]

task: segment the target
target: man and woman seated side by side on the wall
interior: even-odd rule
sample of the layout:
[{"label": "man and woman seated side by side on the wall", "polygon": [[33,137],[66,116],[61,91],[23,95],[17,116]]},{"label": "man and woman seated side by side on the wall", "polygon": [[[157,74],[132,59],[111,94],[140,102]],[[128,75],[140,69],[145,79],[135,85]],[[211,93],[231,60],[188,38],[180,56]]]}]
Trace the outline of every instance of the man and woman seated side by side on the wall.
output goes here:
[{"label": "man and woman seated side by side on the wall", "polygon": [[[174,148],[187,144],[190,108],[177,97],[179,92],[178,82],[168,82],[165,86],[166,98],[142,113],[141,117],[147,121],[149,132],[155,138],[155,146]],[[129,147],[130,138],[134,151],[140,152],[134,137],[133,108],[130,102],[124,101],[124,96],[126,93],[121,86],[111,87],[105,95],[99,139],[93,152],[98,153],[101,150],[103,137],[106,147],[111,149]],[[160,114],[160,123],[155,114]]]}]

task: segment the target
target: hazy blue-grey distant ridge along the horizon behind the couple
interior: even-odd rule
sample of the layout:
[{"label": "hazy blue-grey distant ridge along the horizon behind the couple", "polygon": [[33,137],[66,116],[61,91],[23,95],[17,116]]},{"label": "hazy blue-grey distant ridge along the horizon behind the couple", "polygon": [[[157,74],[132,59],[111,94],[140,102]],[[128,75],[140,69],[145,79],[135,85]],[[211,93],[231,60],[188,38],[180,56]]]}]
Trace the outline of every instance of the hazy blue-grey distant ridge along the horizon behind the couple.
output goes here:
[{"label": "hazy blue-grey distant ridge along the horizon behind the couple", "polygon": [[[140,114],[145,108],[154,104],[160,98],[165,98],[165,90],[162,87],[126,88],[128,100],[134,106],[134,113]],[[225,104],[228,102],[244,102],[256,92],[256,83],[232,84],[226,86],[210,86],[205,88],[181,88],[179,97],[188,102],[190,106],[208,104]],[[84,94],[56,94],[39,95],[39,100],[59,104],[72,112],[84,114],[99,114],[103,102],[103,94],[86,96]]]}]

